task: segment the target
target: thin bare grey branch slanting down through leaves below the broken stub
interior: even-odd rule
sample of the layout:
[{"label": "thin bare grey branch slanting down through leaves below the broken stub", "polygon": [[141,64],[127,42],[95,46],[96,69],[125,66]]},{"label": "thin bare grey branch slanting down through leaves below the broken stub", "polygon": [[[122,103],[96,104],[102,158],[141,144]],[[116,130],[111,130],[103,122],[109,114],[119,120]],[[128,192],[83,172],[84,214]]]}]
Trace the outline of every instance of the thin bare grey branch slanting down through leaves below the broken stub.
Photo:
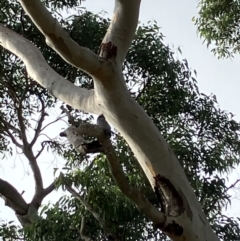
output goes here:
[{"label": "thin bare grey branch slanting down through leaves below the broken stub", "polygon": [[114,238],[113,240],[117,240],[115,238],[115,235],[112,234],[112,232],[107,227],[106,222],[100,217],[100,215],[91,207],[91,205],[85,200],[84,195],[80,195],[77,193],[71,185],[69,185],[66,180],[64,179],[63,174],[61,173],[61,178],[63,180],[64,185],[66,186],[66,189],[75,197],[77,198],[84,206],[85,208],[94,216],[94,218],[100,223],[101,227],[103,228],[104,232],[107,234],[107,236],[110,236]]}]

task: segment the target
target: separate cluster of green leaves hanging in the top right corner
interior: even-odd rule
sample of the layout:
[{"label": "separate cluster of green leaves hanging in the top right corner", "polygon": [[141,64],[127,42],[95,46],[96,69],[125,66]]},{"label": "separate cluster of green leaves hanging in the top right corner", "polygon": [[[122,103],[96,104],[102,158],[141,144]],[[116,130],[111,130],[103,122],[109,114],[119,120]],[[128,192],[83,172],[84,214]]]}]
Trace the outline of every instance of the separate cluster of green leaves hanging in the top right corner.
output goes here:
[{"label": "separate cluster of green leaves hanging in the top right corner", "polygon": [[201,0],[199,8],[199,17],[193,20],[213,53],[219,57],[233,57],[239,53],[239,1]]}]

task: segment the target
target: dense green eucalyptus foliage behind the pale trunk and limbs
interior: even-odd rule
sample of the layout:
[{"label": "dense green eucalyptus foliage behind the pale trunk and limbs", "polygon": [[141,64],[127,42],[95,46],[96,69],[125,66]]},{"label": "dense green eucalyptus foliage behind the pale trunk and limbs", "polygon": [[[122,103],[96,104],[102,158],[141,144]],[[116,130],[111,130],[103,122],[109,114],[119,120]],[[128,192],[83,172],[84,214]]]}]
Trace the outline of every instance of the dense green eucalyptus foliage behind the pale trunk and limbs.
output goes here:
[{"label": "dense green eucalyptus foliage behind the pale trunk and limbs", "polygon": [[[60,11],[75,7],[80,12],[80,17],[59,17],[61,24],[75,41],[98,52],[108,19],[76,9],[76,1],[45,2],[53,12],[56,9]],[[5,0],[1,1],[0,7],[1,22],[31,40],[55,71],[76,85],[93,87],[86,74],[65,63],[46,46],[43,36],[18,4],[9,4]],[[189,68],[187,60],[176,60],[174,53],[162,41],[163,35],[155,22],[138,27],[123,66],[127,85],[132,96],[171,145],[213,229],[222,240],[237,240],[240,238],[239,223],[224,216],[222,211],[230,203],[226,175],[239,164],[240,125],[234,121],[231,113],[219,108],[216,96],[206,96],[199,92],[196,71]],[[62,104],[29,80],[22,63],[5,50],[1,50],[0,69],[3,70],[0,82],[0,98],[3,100],[1,127],[6,122],[20,126],[18,112],[23,111],[24,125],[30,129],[31,116],[42,113],[39,109],[41,103],[44,103],[46,110],[53,106],[58,108]],[[11,95],[12,92],[14,95]],[[21,108],[16,105],[16,99],[21,100]],[[71,114],[75,120],[93,122],[91,116],[79,111],[72,110]],[[4,140],[2,143],[6,143],[0,146],[3,152],[8,151],[7,142],[11,140],[11,135],[7,134],[4,128],[0,129],[0,138]],[[21,139],[18,132],[13,131],[12,134]],[[142,169],[118,133],[114,136],[113,143],[131,185],[140,189],[158,206]],[[83,195],[119,240],[166,240],[133,203],[122,195],[103,155],[79,155],[61,139],[48,141],[48,146],[66,161],[62,168],[64,180]],[[57,176],[58,170],[55,171]],[[58,178],[57,188],[65,191],[61,178]],[[39,215],[41,219],[24,230],[1,225],[0,235],[7,240],[76,240],[81,224],[85,222],[84,233],[93,240],[108,238],[101,222],[93,217],[82,202],[70,195],[62,196],[57,203],[43,206]]]}]

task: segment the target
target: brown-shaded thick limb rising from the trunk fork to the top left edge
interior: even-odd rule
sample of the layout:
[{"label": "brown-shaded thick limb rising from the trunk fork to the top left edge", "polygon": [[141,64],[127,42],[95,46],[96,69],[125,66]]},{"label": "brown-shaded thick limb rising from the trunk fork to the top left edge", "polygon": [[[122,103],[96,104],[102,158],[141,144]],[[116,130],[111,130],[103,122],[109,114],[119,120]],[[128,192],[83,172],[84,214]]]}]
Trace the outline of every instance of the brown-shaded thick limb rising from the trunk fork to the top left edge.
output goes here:
[{"label": "brown-shaded thick limb rising from the trunk fork to the top left edge", "polygon": [[71,65],[90,75],[99,71],[102,60],[91,50],[79,46],[53,18],[40,0],[18,0],[37,28],[46,37],[47,44]]}]

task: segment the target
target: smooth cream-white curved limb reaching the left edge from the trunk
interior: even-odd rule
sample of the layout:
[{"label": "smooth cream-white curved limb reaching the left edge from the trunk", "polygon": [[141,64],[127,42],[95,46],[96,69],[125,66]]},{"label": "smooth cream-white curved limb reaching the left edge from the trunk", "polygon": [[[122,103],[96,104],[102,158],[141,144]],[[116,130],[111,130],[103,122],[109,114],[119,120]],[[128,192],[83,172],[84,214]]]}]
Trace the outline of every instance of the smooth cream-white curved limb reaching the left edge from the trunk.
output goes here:
[{"label": "smooth cream-white curved limb reaching the left edge from the trunk", "polygon": [[[48,25],[48,23],[46,24]],[[0,24],[0,44],[17,55],[26,65],[29,76],[52,95],[75,109],[97,113],[94,90],[76,87],[70,81],[64,79],[47,64],[36,46],[2,24]],[[78,53],[78,50],[74,51]]]}]

